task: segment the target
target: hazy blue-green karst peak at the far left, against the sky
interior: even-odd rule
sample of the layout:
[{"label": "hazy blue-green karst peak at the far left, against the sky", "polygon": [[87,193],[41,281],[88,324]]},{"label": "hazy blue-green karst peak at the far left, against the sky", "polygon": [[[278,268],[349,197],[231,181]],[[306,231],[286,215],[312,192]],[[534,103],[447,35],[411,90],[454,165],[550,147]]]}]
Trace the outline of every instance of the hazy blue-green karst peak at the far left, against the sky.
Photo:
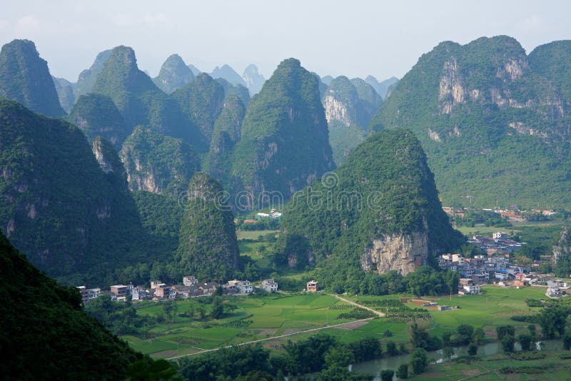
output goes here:
[{"label": "hazy blue-green karst peak at the far left, against the sky", "polygon": [[48,69],[36,45],[14,40],[0,51],[0,98],[19,101],[30,110],[46,116],[63,116],[59,98]]}]

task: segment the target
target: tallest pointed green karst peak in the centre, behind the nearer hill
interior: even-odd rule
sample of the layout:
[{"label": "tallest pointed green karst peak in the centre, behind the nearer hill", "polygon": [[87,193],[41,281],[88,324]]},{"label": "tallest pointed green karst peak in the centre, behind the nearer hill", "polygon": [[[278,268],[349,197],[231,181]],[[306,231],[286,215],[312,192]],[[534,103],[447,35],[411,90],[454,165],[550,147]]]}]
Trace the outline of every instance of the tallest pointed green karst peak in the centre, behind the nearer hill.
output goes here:
[{"label": "tallest pointed green karst peak in the centre, behind the nearer hill", "polygon": [[333,169],[318,78],[299,61],[282,61],[248,104],[232,163],[231,188],[251,193],[246,208],[276,202],[258,199],[263,190],[288,200]]}]

